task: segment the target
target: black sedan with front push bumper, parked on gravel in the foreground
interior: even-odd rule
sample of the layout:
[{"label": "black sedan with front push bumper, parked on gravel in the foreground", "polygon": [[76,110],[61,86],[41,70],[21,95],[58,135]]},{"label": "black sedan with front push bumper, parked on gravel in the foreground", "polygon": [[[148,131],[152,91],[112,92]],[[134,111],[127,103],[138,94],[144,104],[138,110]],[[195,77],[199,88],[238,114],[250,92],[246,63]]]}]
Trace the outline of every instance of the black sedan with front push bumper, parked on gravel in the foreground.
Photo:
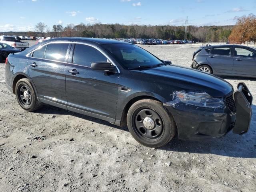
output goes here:
[{"label": "black sedan with front push bumper, parked on gravel in the foreground", "polygon": [[6,62],[6,86],[27,111],[43,103],[128,126],[149,147],[248,131],[252,95],[225,80],[171,66],[130,43],[45,40]]}]

